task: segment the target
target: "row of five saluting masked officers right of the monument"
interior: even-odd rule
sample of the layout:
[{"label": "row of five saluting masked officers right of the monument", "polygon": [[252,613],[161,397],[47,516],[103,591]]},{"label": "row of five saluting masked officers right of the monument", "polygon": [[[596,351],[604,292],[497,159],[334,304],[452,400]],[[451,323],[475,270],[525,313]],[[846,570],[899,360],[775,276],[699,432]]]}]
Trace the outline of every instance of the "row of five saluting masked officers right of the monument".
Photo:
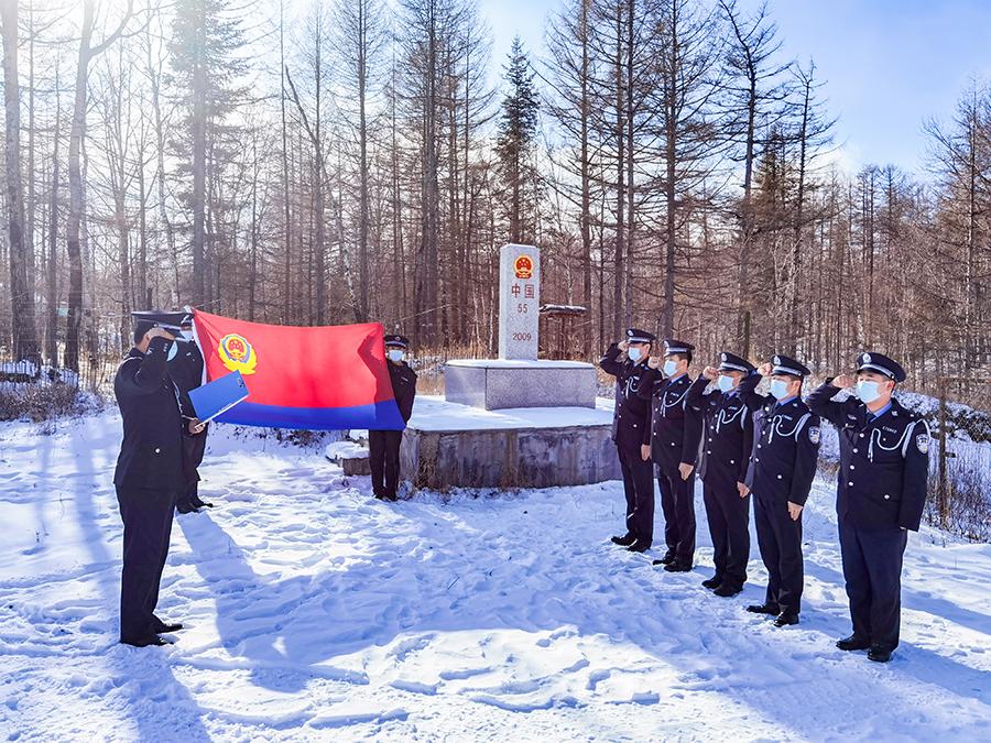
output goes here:
[{"label": "row of five saluting masked officers right of the monument", "polygon": [[[837,513],[853,624],[836,645],[887,662],[899,644],[906,536],[918,531],[928,473],[928,426],[892,396],[905,371],[881,353],[860,353],[856,375],[829,378],[803,400],[809,370],[796,359],[775,356],[756,368],[723,352],[693,380],[691,343],[668,339],[652,356],[655,343],[654,335],[630,328],[599,362],[616,376],[613,440],[627,499],[627,532],[612,542],[634,553],[651,548],[656,477],[666,551],[653,564],[691,570],[698,474],[716,567],[703,586],[722,598],[743,590],[752,500],[767,590],[747,611],[772,616],[778,627],[797,624],[802,511],[826,419],[839,433]],[[761,394],[765,378],[769,394]],[[835,401],[847,387],[853,394]]]}]

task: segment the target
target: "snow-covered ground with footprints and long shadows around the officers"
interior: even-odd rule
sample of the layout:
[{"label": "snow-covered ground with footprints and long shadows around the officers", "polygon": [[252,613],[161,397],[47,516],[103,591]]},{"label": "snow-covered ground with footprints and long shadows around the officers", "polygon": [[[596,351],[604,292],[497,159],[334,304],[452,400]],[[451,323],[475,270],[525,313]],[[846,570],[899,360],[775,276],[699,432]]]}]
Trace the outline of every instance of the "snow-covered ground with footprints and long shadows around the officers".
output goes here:
[{"label": "snow-covered ground with footprints and long shadows around the officers", "polygon": [[[217,507],[179,516],[160,615],[117,644],[113,413],[0,427],[7,740],[991,740],[991,545],[913,534],[903,644],[845,654],[832,512],[806,511],[802,624],[607,544],[617,482],[385,504],[316,448],[214,433]],[[658,534],[661,515],[658,509]]]}]

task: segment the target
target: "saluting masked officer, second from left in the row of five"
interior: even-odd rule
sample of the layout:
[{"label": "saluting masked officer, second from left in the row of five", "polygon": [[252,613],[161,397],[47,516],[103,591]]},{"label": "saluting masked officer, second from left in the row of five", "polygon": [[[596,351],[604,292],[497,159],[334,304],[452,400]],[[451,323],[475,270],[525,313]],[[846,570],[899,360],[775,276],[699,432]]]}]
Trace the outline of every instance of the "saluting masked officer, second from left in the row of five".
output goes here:
[{"label": "saluting masked officer, second from left in the row of five", "polygon": [[695,463],[701,436],[701,408],[688,403],[688,365],[695,346],[664,341],[664,361],[651,359],[663,376],[641,384],[638,393],[651,403],[651,459],[661,491],[667,551],[654,565],[668,572],[687,572],[695,561]]}]

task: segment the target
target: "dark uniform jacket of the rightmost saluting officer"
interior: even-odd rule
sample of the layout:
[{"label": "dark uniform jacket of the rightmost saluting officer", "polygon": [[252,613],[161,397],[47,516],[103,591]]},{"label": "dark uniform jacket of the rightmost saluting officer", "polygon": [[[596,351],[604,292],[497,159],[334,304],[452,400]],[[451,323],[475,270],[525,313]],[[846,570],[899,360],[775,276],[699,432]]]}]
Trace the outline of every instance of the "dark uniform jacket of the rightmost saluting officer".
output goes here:
[{"label": "dark uniform jacket of the rightmost saluting officer", "polygon": [[837,513],[861,528],[917,532],[929,473],[928,424],[894,398],[868,423],[867,405],[857,397],[832,402],[839,392],[827,382],[808,397],[809,407],[839,431]]}]

